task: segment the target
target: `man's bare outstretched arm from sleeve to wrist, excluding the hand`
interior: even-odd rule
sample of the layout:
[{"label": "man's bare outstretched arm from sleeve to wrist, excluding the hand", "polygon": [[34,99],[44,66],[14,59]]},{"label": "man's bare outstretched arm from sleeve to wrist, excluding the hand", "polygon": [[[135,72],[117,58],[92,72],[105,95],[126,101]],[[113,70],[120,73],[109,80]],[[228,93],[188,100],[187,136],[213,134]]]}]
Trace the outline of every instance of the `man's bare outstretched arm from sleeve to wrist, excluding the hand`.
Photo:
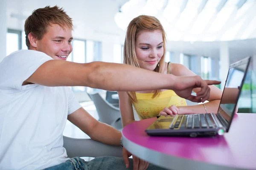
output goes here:
[{"label": "man's bare outstretched arm from sleeve to wrist, excluding the hand", "polygon": [[109,91],[135,91],[172,88],[174,77],[131,65],[49,60],[26,82],[46,86],[87,86]]}]

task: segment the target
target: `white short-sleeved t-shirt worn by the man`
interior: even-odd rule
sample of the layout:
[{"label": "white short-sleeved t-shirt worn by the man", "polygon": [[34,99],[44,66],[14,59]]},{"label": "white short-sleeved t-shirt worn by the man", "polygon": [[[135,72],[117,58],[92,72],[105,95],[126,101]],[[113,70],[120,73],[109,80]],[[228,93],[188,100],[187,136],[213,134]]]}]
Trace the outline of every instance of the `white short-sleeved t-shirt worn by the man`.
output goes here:
[{"label": "white short-sleeved t-shirt worn by the man", "polygon": [[[37,170],[67,161],[63,130],[81,108],[69,87],[22,85],[52,59],[20,50],[0,62],[0,170]],[[65,70],[63,70],[65,71]]]}]

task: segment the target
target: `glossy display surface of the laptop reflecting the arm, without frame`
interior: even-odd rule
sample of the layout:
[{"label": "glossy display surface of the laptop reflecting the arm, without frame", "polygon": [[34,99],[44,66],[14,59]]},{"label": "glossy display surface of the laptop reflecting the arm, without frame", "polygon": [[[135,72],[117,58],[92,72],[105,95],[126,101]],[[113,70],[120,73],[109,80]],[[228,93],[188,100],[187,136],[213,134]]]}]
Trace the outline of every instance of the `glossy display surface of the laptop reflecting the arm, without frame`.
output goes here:
[{"label": "glossy display surface of the laptop reflecting the arm, without frame", "polygon": [[237,111],[236,101],[239,96],[239,90],[242,87],[241,83],[247,68],[247,63],[237,65],[229,69],[227,82],[223,90],[221,105],[218,108],[218,113],[227,121],[230,122],[234,111]]}]

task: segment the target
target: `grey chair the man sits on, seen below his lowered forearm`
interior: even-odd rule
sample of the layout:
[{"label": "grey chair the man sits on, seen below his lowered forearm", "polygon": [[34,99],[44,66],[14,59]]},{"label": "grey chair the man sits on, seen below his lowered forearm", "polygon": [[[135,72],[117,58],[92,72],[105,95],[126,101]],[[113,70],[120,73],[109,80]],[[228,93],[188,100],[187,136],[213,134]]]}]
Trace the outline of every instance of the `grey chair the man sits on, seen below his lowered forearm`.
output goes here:
[{"label": "grey chair the man sits on, seen below his lowered forearm", "polygon": [[122,147],[103,144],[93,139],[75,139],[63,136],[63,147],[67,150],[67,156],[99,157],[117,156],[122,157]]}]

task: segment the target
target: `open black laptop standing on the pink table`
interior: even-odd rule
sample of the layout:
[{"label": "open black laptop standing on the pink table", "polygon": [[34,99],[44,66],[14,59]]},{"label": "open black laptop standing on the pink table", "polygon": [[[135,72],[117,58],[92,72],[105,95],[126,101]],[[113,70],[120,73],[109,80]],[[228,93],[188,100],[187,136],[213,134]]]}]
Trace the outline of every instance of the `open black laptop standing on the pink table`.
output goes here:
[{"label": "open black laptop standing on the pink table", "polygon": [[157,116],[145,132],[150,136],[215,136],[227,133],[247,74],[250,58],[231,64],[217,113]]}]

